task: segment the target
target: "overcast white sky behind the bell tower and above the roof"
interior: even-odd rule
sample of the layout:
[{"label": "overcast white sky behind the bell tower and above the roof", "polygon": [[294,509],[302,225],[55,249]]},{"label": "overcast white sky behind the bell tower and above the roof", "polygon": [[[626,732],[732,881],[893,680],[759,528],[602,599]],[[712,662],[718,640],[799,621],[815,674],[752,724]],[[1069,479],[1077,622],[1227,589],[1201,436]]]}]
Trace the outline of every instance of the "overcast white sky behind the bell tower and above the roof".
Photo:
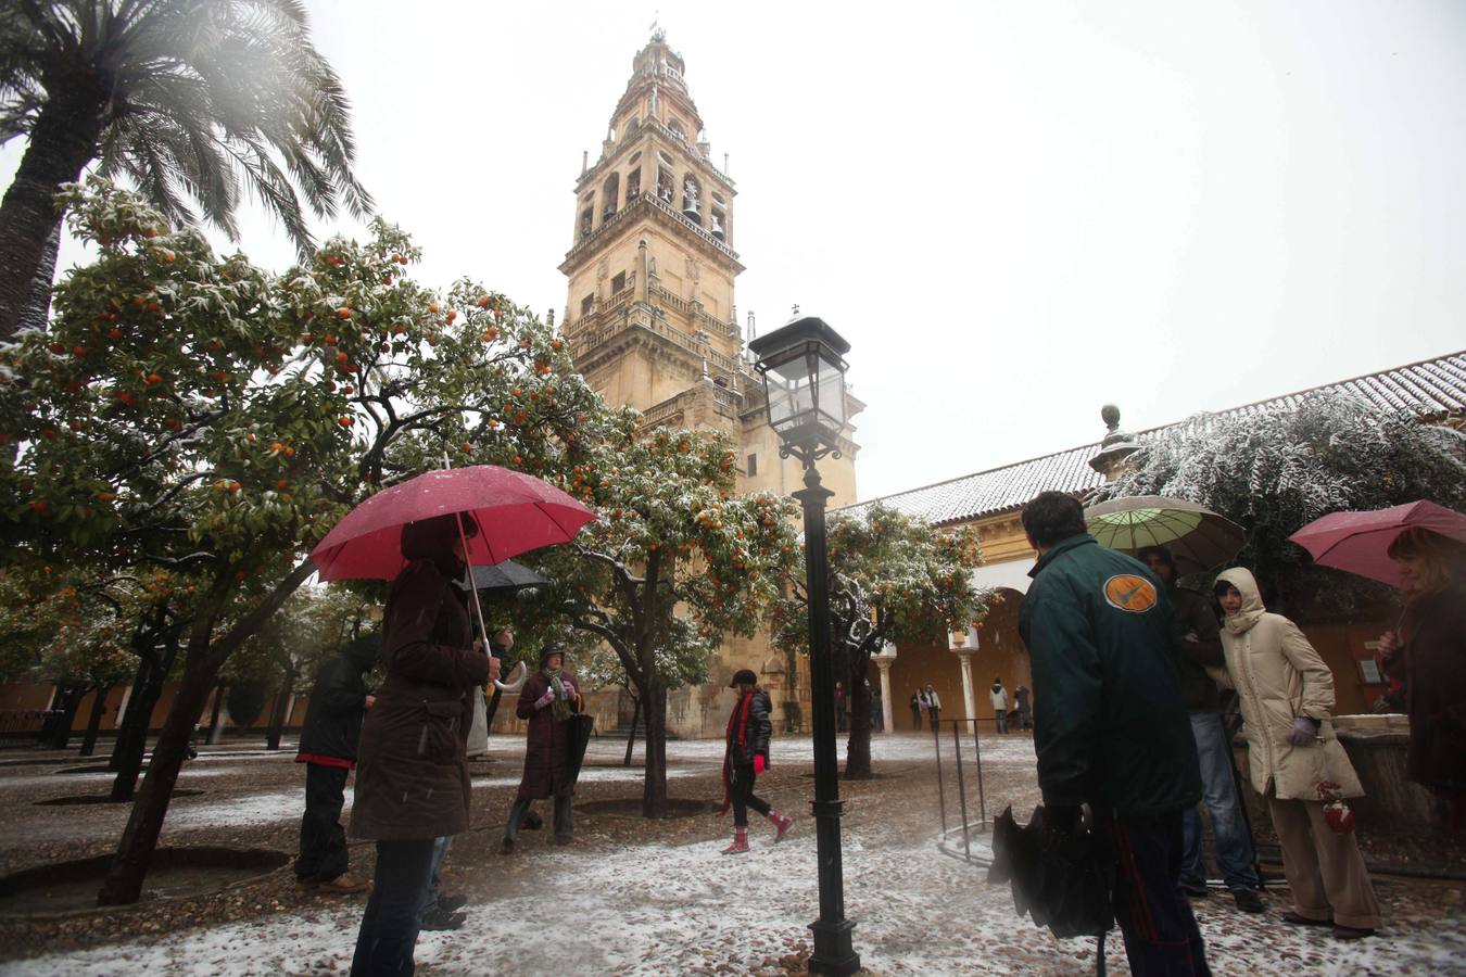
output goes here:
[{"label": "overcast white sky behind the bell tower and above the roof", "polygon": [[[421,275],[557,319],[660,16],[730,154],[740,318],[852,343],[861,498],[1098,439],[1105,401],[1149,428],[1466,347],[1459,0],[308,7]],[[264,218],[242,246],[292,259]]]}]

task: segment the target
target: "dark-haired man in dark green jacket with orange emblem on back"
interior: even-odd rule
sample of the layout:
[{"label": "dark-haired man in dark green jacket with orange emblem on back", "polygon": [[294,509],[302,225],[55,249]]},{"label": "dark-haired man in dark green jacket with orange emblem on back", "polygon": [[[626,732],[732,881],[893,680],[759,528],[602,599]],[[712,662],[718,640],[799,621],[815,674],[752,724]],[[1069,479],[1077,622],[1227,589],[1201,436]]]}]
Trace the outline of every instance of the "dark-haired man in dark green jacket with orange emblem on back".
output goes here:
[{"label": "dark-haired man in dark green jacket with orange emblem on back", "polygon": [[1132,973],[1209,974],[1180,889],[1182,811],[1201,797],[1201,773],[1165,587],[1100,546],[1072,495],[1041,494],[1022,521],[1038,551],[1019,634],[1038,693],[1045,820],[1061,844],[1091,809],[1113,855],[1111,907]]}]

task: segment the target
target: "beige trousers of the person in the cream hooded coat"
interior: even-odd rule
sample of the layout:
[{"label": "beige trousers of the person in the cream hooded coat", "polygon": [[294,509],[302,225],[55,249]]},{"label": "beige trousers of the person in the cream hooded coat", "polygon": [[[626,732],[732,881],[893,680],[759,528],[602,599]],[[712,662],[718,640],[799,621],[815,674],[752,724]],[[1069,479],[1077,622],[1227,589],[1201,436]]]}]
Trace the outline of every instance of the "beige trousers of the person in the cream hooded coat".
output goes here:
[{"label": "beige trousers of the person in the cream hooded coat", "polygon": [[1378,929],[1380,904],[1355,833],[1334,833],[1324,820],[1322,801],[1268,797],[1268,813],[1283,845],[1293,911],[1311,920],[1333,917],[1340,926]]}]

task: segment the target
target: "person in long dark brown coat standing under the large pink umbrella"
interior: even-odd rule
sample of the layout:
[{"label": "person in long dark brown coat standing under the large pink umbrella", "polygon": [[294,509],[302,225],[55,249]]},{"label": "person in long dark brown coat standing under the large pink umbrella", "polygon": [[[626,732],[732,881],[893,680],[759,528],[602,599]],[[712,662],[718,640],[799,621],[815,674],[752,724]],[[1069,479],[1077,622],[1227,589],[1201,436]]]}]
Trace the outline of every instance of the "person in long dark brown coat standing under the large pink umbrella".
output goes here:
[{"label": "person in long dark brown coat standing under the large pink umbrella", "polygon": [[432,869],[434,839],[468,829],[468,729],[498,661],[472,640],[462,536],[468,516],[437,516],[402,527],[408,565],[387,598],[383,661],[387,680],[362,725],[353,838],[377,842],[377,876],[356,935],[352,977],[410,974],[418,910]]}]

